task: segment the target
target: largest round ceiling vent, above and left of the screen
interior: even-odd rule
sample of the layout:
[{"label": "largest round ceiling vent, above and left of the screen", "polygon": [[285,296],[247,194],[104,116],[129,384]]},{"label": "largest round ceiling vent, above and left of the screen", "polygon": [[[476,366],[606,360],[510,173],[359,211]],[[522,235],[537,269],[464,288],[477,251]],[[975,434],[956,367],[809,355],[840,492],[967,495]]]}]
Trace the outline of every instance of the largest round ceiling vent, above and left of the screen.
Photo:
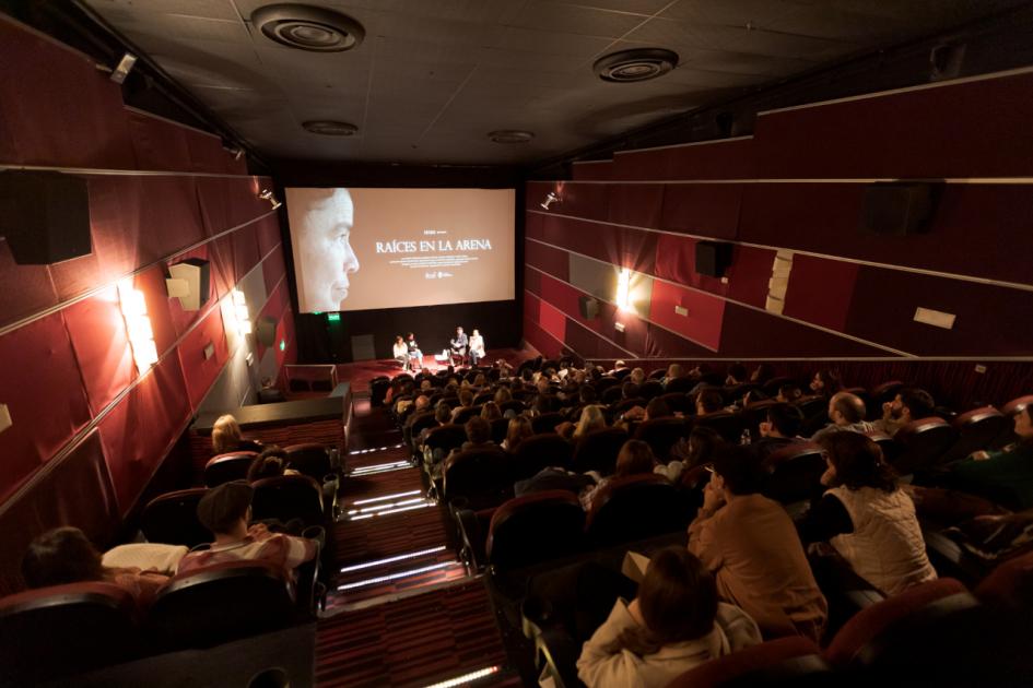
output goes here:
[{"label": "largest round ceiling vent, above and left of the screen", "polygon": [[251,23],[270,40],[312,52],[351,50],[366,35],[347,14],[307,4],[267,4],[251,13]]}]

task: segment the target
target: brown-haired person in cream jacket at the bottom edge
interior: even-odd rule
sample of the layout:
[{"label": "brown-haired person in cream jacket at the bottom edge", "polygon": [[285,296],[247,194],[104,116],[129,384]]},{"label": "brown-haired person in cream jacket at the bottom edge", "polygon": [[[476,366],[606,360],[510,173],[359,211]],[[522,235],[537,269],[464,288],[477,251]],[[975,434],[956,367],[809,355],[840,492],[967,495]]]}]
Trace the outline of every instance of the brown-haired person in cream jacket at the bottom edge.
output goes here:
[{"label": "brown-haired person in cream jacket at the bottom edge", "polygon": [[718,602],[700,560],[670,547],[649,561],[637,596],[618,598],[585,643],[577,675],[588,688],[662,688],[690,668],[760,642],[749,615]]}]

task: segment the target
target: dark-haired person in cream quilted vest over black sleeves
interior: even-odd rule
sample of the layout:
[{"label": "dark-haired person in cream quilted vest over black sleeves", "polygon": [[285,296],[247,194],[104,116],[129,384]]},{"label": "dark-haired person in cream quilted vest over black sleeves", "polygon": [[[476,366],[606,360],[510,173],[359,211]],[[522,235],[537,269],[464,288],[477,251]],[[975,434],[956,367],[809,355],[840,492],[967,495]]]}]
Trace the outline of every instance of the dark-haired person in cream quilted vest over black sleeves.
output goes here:
[{"label": "dark-haired person in cream quilted vest over black sleeves", "polygon": [[885,595],[936,580],[915,517],[879,444],[857,432],[822,442],[830,488],[800,525],[805,544],[827,541],[854,571]]}]

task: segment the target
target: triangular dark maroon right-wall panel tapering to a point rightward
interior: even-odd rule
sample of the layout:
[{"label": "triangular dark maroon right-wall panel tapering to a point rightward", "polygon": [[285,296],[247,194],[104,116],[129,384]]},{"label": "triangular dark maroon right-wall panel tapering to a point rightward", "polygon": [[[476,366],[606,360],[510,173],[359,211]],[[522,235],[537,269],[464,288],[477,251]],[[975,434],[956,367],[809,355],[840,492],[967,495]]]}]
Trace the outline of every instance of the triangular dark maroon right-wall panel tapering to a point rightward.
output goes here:
[{"label": "triangular dark maroon right-wall panel tapering to a point rightward", "polygon": [[892,352],[815,330],[764,311],[737,304],[725,306],[719,356],[794,358],[797,356],[893,355]]}]

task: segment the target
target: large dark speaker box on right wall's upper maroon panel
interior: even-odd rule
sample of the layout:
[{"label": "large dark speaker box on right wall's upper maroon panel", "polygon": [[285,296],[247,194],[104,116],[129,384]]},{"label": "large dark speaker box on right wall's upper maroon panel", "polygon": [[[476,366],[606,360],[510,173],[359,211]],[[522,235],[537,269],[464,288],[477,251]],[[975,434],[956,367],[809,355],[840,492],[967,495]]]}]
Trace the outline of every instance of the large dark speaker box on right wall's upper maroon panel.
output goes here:
[{"label": "large dark speaker box on right wall's upper maroon panel", "polygon": [[865,190],[860,229],[907,236],[928,232],[943,182],[877,181]]}]

